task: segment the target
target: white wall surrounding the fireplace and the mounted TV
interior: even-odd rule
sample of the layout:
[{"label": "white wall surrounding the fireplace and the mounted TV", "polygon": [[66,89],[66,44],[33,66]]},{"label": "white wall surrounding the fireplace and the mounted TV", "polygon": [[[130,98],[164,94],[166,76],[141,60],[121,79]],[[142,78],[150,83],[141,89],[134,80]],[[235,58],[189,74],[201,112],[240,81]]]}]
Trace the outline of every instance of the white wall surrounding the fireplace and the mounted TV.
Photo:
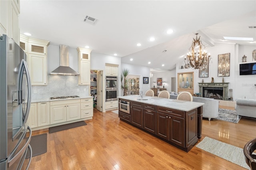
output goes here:
[{"label": "white wall surrounding the fireplace and the mounted TV", "polygon": [[[239,75],[239,63],[242,62],[242,56],[245,54],[248,59],[252,61],[252,50],[255,46],[244,46],[236,44],[215,43],[214,47],[207,47],[207,51],[211,54],[211,61],[209,63],[209,76],[199,77],[199,71],[195,69],[179,69],[183,63],[178,63],[176,73],[194,71],[194,93],[199,92],[198,83],[211,82],[214,77],[215,83],[221,83],[222,77],[218,77],[218,55],[230,53],[230,76],[224,77],[224,82],[229,83],[228,88],[233,89],[233,99],[248,98],[256,99],[256,75]],[[255,61],[254,61],[255,62]],[[177,79],[176,79],[177,81]],[[230,97],[230,94],[229,94]]]}]

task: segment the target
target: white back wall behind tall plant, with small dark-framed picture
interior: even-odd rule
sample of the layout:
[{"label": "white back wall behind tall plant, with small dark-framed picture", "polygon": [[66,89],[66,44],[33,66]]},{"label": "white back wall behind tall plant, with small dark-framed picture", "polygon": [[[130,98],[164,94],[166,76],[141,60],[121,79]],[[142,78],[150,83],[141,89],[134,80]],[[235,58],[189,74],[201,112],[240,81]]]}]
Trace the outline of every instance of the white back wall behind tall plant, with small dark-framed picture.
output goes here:
[{"label": "white back wall behind tall plant, with small dark-framed picture", "polygon": [[[122,63],[121,72],[123,69],[126,69],[126,68],[130,71],[130,73],[129,73],[130,75],[140,76],[140,87],[142,87],[143,94],[145,94],[145,92],[150,89],[150,82],[148,82],[148,84],[143,84],[142,79],[143,79],[143,77],[148,77],[148,80],[150,81],[150,68],[141,66],[141,65]],[[122,95],[123,94],[121,94],[121,96]]]}]

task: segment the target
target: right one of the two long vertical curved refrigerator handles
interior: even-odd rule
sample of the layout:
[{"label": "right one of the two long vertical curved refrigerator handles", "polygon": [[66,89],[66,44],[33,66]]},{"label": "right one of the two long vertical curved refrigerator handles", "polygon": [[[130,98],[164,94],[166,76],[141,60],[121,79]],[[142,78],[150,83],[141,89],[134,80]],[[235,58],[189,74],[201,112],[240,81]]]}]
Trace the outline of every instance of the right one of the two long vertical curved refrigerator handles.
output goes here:
[{"label": "right one of the two long vertical curved refrigerator handles", "polygon": [[24,69],[27,77],[27,84],[28,84],[28,101],[27,101],[27,108],[26,108],[26,113],[23,121],[24,123],[26,123],[28,119],[29,111],[30,111],[32,93],[31,93],[31,80],[30,80],[30,74],[28,71],[28,65],[24,59],[22,59],[22,64],[24,65]]}]

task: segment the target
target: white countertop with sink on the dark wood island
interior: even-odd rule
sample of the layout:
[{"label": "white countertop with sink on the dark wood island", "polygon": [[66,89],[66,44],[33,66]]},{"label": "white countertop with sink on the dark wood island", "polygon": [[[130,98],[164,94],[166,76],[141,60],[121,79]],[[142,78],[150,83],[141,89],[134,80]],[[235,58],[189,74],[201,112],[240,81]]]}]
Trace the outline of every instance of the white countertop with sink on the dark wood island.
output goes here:
[{"label": "white countertop with sink on the dark wood island", "polygon": [[156,105],[156,106],[167,107],[170,109],[177,109],[177,110],[186,111],[186,112],[204,105],[204,103],[199,103],[199,102],[182,101],[182,100],[176,100],[176,99],[166,99],[161,97],[149,97],[149,96],[143,96],[143,99],[148,99],[148,100],[140,100],[141,99],[140,95],[120,96],[118,98],[141,102],[141,103],[147,103],[147,104]]}]

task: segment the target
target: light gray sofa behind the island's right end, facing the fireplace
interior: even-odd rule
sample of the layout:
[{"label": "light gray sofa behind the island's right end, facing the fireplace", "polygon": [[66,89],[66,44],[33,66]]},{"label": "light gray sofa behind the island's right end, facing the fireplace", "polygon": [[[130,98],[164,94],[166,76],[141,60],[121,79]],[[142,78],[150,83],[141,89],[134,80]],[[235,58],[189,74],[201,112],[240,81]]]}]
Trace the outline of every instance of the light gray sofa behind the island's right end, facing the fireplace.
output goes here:
[{"label": "light gray sofa behind the island's right end, facing the fireplace", "polygon": [[[178,95],[171,95],[170,99],[177,99]],[[203,105],[203,117],[208,118],[209,121],[212,118],[218,117],[219,114],[219,101],[215,99],[205,97],[193,97],[194,102],[204,103]]]}]

